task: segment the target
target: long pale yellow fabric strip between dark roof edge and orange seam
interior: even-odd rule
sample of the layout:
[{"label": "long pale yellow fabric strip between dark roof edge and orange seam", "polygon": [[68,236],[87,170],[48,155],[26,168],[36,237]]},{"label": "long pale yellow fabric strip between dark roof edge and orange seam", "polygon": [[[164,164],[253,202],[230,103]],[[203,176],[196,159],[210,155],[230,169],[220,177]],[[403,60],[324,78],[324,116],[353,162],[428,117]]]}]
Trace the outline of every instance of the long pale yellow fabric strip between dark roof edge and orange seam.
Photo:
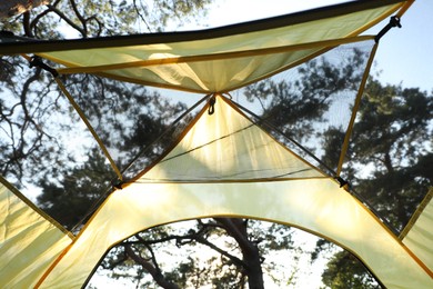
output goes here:
[{"label": "long pale yellow fabric strip between dark roof edge and orange seam", "polygon": [[[262,31],[240,33],[204,40],[161,42],[131,47],[82,49],[41,53],[68,67],[92,67],[125,63],[142,60],[167,59],[173,57],[205,56],[222,52],[250,51],[263,48],[294,46],[323,40],[356,36],[352,34],[364,26],[394,12],[400,4],[359,11],[336,18],[284,26]],[[290,16],[288,16],[290,19]],[[344,24],[341,24],[344,23]],[[143,36],[145,42],[145,36]]]}]

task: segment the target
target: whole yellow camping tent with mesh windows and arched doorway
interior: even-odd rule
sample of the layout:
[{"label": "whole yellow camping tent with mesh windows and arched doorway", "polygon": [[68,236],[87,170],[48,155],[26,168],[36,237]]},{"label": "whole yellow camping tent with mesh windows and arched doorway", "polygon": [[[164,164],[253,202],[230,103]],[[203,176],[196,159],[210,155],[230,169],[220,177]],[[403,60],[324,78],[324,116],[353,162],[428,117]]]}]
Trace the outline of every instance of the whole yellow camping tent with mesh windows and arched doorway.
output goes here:
[{"label": "whole yellow camping tent with mesh windows and arched doorway", "polygon": [[[354,253],[386,287],[431,288],[431,192],[401,240],[340,176],[381,37],[360,34],[390,16],[400,19],[411,3],[356,1],[203,31],[64,41],[12,37],[1,43],[1,54],[34,53],[27,57],[31,64],[54,76],[119,177],[77,237],[1,179],[0,252],[10,263],[0,271],[2,287],[81,287],[108,249],[139,231],[226,216],[276,221],[321,236]],[[279,141],[253,113],[230,99],[235,89],[352,43],[365,43],[370,57],[335,171],[296,141],[289,140],[290,146]],[[47,67],[40,59],[58,67]],[[112,157],[62,84],[59,74],[69,73],[94,73],[207,97],[158,161],[131,173]]]}]

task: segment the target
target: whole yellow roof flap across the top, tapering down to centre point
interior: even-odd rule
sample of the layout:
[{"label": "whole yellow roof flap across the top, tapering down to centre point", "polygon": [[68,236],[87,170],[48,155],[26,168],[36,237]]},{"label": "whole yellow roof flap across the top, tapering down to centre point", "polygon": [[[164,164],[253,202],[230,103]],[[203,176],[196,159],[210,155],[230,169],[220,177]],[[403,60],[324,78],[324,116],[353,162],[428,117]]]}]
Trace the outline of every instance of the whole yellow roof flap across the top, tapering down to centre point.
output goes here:
[{"label": "whole yellow roof flap across the top, tapering down to centre point", "polygon": [[[69,47],[57,51],[56,46],[50,50],[49,43],[42,43],[44,51],[39,56],[66,66],[67,69],[59,69],[60,73],[91,72],[147,86],[200,93],[226,92],[341,43],[365,40],[349,38],[358,37],[405,2],[356,1],[240,27],[159,37],[143,34],[131,41],[119,38],[113,40],[119,43],[117,47],[103,44],[109,42],[103,38],[89,42],[99,48],[80,49],[85,41],[72,40]],[[135,44],[125,44],[129,42]]]}]

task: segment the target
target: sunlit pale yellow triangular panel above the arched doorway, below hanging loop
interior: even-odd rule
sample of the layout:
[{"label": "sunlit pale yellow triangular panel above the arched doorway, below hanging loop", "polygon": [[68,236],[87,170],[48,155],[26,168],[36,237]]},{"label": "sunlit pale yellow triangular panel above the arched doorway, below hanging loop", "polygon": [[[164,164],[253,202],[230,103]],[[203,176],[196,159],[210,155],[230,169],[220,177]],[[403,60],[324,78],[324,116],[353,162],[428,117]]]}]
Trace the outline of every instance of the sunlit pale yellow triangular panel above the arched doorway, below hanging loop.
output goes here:
[{"label": "sunlit pale yellow triangular panel above the arched doorway, below hanging loop", "polygon": [[215,97],[181,141],[139,182],[324,178],[310,163]]}]

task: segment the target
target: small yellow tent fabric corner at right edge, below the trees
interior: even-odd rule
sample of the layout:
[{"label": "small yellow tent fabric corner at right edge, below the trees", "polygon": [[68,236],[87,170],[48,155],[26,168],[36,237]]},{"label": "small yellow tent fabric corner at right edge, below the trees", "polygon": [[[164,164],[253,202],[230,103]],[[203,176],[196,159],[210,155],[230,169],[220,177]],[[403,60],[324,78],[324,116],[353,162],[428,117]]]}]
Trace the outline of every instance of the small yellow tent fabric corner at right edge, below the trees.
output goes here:
[{"label": "small yellow tent fabric corner at right edge, below the trees", "polygon": [[427,203],[415,223],[403,239],[407,246],[427,267],[433,270],[433,188],[426,197]]}]

